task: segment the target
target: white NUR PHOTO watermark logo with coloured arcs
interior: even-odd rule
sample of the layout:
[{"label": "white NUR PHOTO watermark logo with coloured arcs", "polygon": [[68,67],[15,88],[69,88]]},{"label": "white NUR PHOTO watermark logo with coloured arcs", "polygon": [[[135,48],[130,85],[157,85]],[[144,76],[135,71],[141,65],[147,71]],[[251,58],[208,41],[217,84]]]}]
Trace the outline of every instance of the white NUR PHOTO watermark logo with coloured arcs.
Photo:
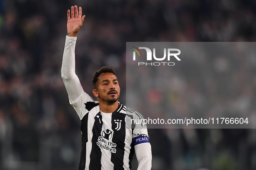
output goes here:
[{"label": "white NUR PHOTO watermark logo with coloured arcs", "polygon": [[[153,48],[153,55],[152,55],[152,51],[148,48],[148,47],[134,47],[134,46],[131,46],[133,48],[134,51],[133,51],[133,60],[136,60],[136,54],[138,54],[139,57],[142,57],[142,53],[141,53],[141,50],[139,49],[144,49],[146,50],[146,63],[145,62],[138,62],[138,66],[140,65],[146,65],[146,66],[160,66],[160,65],[163,65],[163,66],[174,66],[175,63],[173,62],[169,62],[171,57],[175,57],[176,60],[178,61],[181,61],[181,59],[178,57],[179,54],[181,54],[181,50],[177,49],[177,48],[168,48],[166,50],[166,48],[164,48],[164,56],[163,57],[156,57],[156,48]],[[167,53],[167,55],[166,55]],[[148,62],[148,61],[152,61],[152,56],[153,56],[153,59],[156,60],[156,61],[163,61],[165,60],[166,61],[166,56],[167,56],[167,61],[168,62]]]}]

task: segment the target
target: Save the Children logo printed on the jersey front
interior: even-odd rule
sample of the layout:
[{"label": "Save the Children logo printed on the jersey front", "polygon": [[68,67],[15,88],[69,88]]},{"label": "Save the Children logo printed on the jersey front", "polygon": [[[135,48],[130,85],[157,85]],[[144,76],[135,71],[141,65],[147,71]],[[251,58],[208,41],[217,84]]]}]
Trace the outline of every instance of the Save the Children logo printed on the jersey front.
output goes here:
[{"label": "Save the Children logo printed on the jersey front", "polygon": [[97,145],[101,148],[101,149],[105,149],[107,151],[110,151],[112,153],[116,153],[117,152],[117,144],[110,141],[110,139],[113,137],[113,131],[111,131],[110,129],[105,129],[103,131],[101,131],[100,136],[98,138],[98,142]]}]

